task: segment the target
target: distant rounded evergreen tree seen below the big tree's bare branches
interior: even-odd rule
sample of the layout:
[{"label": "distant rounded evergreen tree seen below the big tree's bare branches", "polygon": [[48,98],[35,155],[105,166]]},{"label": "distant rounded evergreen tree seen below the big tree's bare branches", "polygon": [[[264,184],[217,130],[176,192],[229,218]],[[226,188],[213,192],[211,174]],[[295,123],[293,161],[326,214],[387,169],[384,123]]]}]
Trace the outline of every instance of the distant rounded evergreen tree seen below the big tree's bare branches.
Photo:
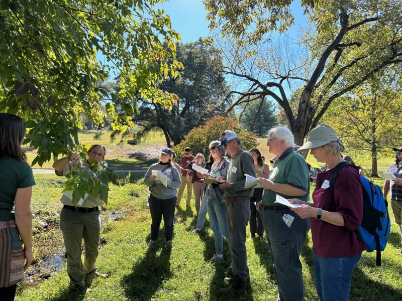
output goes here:
[{"label": "distant rounded evergreen tree seen below the big tree's bare branches", "polygon": [[276,118],[275,105],[271,101],[254,100],[244,105],[240,124],[243,128],[262,136],[266,135],[270,128],[277,125]]}]

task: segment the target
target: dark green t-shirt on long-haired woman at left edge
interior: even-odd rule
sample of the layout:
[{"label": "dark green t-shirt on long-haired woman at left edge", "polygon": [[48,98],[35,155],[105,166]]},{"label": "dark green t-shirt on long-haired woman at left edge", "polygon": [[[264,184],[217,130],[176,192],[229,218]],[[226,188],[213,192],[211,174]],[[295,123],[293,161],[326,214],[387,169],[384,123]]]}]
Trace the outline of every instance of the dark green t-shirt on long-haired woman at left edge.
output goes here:
[{"label": "dark green t-shirt on long-haired woman at left edge", "polygon": [[0,158],[0,221],[14,219],[17,189],[34,185],[34,175],[27,163],[10,157]]}]

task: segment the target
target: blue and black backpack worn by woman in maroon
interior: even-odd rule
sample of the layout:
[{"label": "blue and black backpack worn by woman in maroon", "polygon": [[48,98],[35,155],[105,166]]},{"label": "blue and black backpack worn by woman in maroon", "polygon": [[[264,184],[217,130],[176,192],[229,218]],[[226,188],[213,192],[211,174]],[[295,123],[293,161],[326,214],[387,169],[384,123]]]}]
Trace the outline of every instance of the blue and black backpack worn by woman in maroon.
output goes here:
[{"label": "blue and black backpack worn by woman in maroon", "polygon": [[[330,174],[332,195],[334,195],[336,175],[346,166],[356,168],[348,162],[341,162],[333,168]],[[385,249],[390,231],[388,204],[378,185],[361,175],[360,180],[363,187],[363,219],[355,232],[357,237],[367,245],[367,252],[377,251],[376,264],[381,265],[381,251]]]}]

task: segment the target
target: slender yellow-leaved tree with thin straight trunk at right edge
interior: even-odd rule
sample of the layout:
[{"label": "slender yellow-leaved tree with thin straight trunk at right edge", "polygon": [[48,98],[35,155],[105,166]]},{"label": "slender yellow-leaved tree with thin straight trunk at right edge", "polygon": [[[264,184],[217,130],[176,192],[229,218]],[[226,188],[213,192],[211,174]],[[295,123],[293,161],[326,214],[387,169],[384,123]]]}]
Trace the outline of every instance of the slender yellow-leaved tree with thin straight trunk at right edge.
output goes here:
[{"label": "slender yellow-leaved tree with thin straight trunk at right edge", "polygon": [[391,74],[386,78],[374,76],[354,89],[353,97],[337,99],[323,117],[342,137],[347,152],[371,155],[372,177],[377,176],[378,155],[399,145],[402,131],[401,83]]}]

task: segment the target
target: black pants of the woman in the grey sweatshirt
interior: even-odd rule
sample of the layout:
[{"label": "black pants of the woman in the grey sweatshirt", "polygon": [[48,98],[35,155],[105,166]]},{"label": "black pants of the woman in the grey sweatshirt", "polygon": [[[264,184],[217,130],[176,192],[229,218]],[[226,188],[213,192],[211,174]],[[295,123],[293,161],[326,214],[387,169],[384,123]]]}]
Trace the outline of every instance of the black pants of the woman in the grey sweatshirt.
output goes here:
[{"label": "black pants of the woman in the grey sweatshirt", "polygon": [[151,211],[151,240],[156,240],[159,234],[160,222],[165,223],[165,239],[166,241],[173,238],[173,217],[176,209],[176,197],[161,200],[155,198],[152,194],[149,197],[149,210]]}]

